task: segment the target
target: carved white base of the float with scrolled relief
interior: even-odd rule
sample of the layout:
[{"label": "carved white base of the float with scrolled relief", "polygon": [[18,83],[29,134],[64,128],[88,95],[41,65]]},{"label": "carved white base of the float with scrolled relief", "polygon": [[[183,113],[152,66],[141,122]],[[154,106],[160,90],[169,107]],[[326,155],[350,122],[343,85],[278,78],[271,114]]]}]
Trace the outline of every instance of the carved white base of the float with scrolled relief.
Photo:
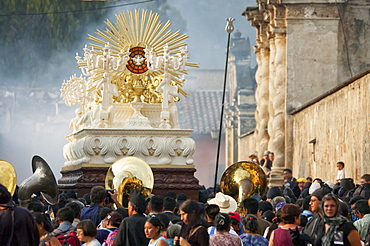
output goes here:
[{"label": "carved white base of the float with scrolled relief", "polygon": [[181,129],[83,129],[67,136],[64,165],[112,164],[125,156],[141,158],[149,165],[193,164],[191,133]]}]

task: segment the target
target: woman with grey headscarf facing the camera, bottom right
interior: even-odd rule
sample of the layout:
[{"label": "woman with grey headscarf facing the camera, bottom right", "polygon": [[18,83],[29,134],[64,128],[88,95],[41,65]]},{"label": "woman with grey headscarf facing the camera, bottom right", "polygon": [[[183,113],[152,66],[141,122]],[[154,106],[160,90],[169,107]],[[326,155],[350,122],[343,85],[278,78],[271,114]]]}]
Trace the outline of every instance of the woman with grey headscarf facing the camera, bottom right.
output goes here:
[{"label": "woman with grey headscarf facing the camera, bottom right", "polygon": [[320,233],[315,240],[316,245],[361,245],[356,227],[339,214],[339,201],[334,194],[329,193],[322,198],[321,209],[323,221],[317,226]]}]

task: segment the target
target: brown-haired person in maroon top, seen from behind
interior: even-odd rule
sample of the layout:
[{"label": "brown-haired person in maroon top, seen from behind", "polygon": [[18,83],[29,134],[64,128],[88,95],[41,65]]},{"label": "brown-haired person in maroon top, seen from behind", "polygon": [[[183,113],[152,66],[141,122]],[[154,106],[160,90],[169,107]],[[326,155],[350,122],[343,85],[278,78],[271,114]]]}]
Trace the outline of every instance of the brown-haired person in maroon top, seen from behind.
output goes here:
[{"label": "brown-haired person in maroon top, seen from behind", "polygon": [[290,230],[302,230],[301,227],[298,227],[301,209],[296,204],[285,204],[281,208],[280,213],[283,225],[271,233],[269,246],[293,246]]}]

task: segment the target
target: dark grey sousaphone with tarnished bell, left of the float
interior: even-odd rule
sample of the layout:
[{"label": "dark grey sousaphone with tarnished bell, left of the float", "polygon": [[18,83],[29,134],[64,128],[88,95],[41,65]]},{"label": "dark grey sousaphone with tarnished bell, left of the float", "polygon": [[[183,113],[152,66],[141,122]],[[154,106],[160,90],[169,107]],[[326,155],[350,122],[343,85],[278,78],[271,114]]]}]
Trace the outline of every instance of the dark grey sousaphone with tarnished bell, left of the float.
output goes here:
[{"label": "dark grey sousaphone with tarnished bell, left of the float", "polygon": [[32,158],[31,177],[25,179],[19,186],[18,199],[22,207],[27,207],[31,201],[31,195],[35,192],[41,192],[44,199],[54,205],[58,200],[58,184],[53,171],[40,156],[35,155]]}]

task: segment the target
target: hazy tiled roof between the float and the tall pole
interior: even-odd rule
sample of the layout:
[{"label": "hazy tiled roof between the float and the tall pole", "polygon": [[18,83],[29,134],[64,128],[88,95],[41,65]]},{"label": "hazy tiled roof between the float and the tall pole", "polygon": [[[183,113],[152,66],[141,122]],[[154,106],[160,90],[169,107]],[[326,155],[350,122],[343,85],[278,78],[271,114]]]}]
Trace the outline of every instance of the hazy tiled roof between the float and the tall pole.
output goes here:
[{"label": "hazy tiled roof between the float and the tall pole", "polygon": [[220,125],[222,91],[199,90],[190,92],[177,103],[179,123],[183,129],[207,134]]}]

